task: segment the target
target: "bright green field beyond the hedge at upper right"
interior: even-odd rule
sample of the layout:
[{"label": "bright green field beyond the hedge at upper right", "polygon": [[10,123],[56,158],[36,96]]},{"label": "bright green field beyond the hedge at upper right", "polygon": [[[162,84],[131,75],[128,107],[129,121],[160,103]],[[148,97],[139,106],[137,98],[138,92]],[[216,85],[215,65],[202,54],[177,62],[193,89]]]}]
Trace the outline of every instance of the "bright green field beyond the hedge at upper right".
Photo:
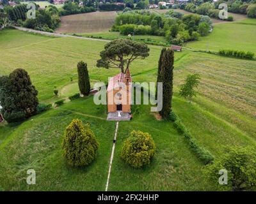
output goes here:
[{"label": "bright green field beyond the hedge at upper right", "polygon": [[192,41],[186,47],[197,50],[219,51],[234,49],[256,54],[256,19],[248,18],[237,22],[216,24],[211,34]]}]

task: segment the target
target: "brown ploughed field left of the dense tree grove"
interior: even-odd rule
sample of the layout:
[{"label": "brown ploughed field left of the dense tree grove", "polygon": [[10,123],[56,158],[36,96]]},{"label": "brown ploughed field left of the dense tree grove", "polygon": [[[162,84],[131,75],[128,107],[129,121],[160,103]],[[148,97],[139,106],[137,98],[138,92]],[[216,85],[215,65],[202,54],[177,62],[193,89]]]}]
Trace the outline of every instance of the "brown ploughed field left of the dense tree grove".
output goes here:
[{"label": "brown ploughed field left of the dense tree grove", "polygon": [[115,21],[116,12],[92,12],[61,17],[57,33],[97,33],[109,31]]}]

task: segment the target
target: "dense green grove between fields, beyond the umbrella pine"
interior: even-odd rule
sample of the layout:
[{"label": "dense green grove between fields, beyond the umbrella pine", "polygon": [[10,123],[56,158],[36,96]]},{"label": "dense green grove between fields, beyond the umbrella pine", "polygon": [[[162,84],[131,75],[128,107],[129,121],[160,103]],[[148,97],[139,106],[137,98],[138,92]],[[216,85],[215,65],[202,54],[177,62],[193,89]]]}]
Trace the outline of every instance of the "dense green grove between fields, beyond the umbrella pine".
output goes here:
[{"label": "dense green grove between fields, beyond the umbrella pine", "polygon": [[123,35],[165,36],[170,43],[182,45],[186,41],[198,40],[199,36],[206,36],[211,27],[212,20],[208,16],[183,15],[173,10],[164,15],[135,11],[118,15],[112,31],[119,31]]}]

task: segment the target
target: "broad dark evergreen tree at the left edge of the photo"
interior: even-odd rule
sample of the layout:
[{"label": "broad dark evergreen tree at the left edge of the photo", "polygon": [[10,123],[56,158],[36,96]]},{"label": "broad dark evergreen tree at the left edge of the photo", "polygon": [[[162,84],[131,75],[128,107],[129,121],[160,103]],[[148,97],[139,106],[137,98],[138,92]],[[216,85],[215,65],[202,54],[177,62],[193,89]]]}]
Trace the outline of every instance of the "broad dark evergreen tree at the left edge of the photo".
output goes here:
[{"label": "broad dark evergreen tree at the left edge of the photo", "polygon": [[15,69],[9,77],[2,77],[1,84],[1,112],[7,122],[18,122],[36,114],[38,92],[27,71]]}]

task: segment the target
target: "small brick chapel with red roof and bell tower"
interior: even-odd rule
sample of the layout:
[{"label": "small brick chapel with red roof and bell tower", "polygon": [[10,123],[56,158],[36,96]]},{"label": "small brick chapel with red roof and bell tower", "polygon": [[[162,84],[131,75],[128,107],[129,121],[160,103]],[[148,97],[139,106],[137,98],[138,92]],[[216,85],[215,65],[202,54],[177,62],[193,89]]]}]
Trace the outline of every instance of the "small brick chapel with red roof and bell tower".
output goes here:
[{"label": "small brick chapel with red roof and bell tower", "polygon": [[[108,82],[108,120],[130,119],[131,113],[131,74],[129,69],[111,77]],[[120,112],[120,113],[118,113]],[[118,116],[120,115],[120,116]]]}]

